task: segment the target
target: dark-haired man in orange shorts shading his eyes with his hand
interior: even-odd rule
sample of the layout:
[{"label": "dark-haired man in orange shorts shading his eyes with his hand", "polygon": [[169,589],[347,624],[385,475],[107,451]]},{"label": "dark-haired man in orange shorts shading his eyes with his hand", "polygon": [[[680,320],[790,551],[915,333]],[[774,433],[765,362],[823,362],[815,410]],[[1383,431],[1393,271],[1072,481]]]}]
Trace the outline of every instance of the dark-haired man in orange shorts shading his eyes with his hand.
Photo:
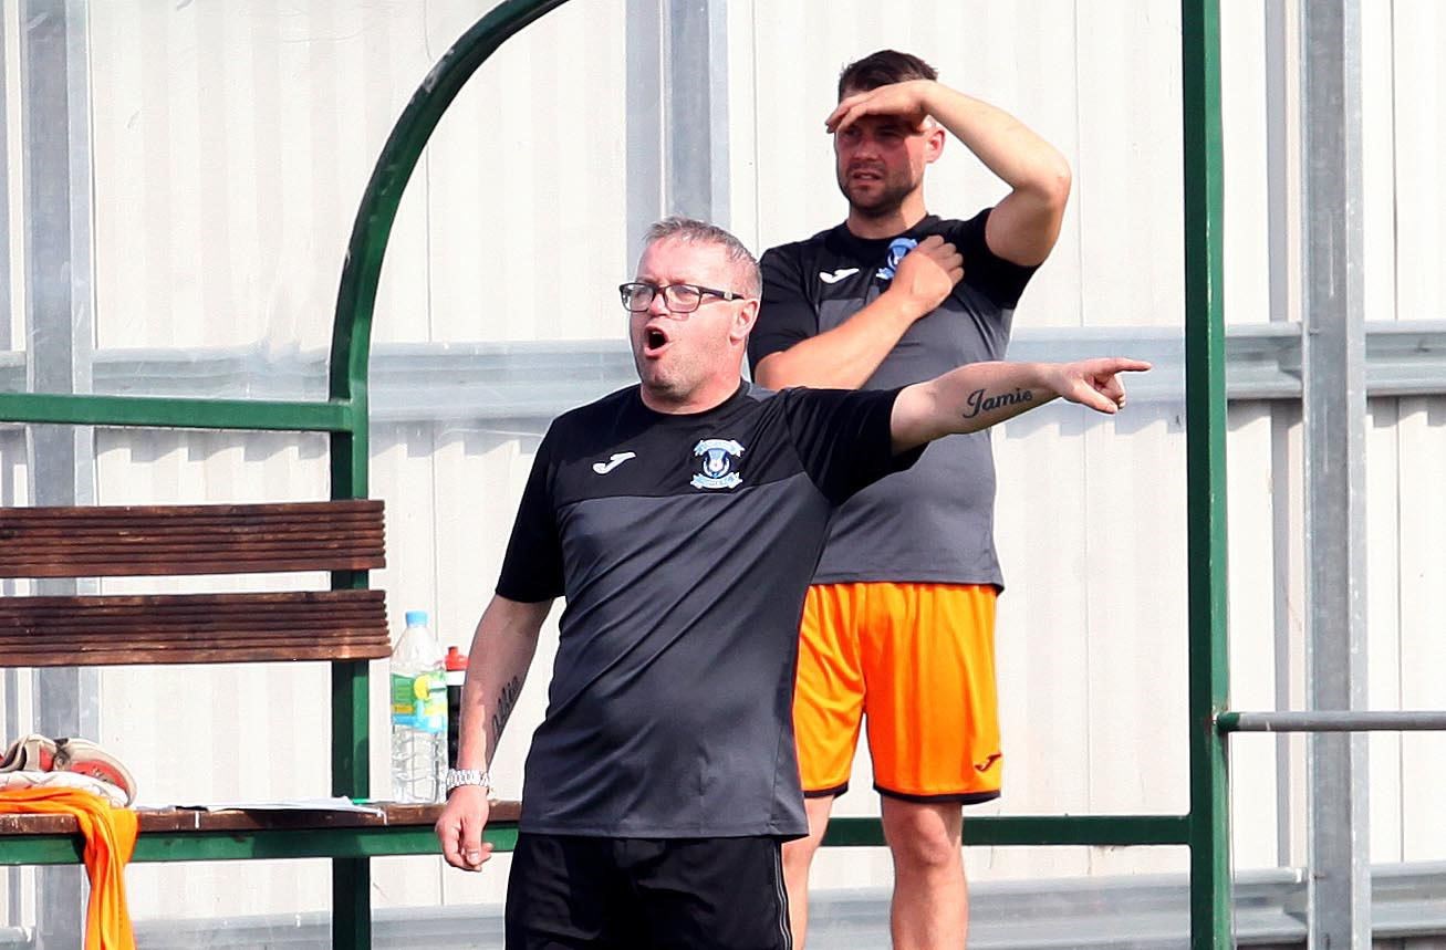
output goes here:
[{"label": "dark-haired man in orange shorts shading his eyes with his hand", "polygon": [[[895,51],[844,67],[824,124],[849,215],[763,254],[753,379],[891,390],[1002,359],[1019,295],[1060,233],[1064,158]],[[967,221],[924,204],[946,132],[1011,188]],[[794,710],[810,834],[790,843],[784,865],[800,946],[808,868],[849,788],[860,720],[894,855],[894,947],[964,946],[962,805],[998,798],[1004,772],[993,496],[980,431],[933,447],[833,522],[804,607]]]}]

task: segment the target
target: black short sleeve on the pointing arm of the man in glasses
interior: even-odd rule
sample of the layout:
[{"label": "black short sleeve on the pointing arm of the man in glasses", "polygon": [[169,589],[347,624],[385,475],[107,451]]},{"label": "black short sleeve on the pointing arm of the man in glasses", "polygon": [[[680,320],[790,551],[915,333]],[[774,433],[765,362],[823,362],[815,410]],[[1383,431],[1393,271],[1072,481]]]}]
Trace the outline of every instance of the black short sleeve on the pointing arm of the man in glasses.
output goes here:
[{"label": "black short sleeve on the pointing arm of the man in glasses", "polygon": [[788,429],[804,470],[834,505],[884,476],[904,471],[924,447],[894,454],[898,389],[785,389]]}]

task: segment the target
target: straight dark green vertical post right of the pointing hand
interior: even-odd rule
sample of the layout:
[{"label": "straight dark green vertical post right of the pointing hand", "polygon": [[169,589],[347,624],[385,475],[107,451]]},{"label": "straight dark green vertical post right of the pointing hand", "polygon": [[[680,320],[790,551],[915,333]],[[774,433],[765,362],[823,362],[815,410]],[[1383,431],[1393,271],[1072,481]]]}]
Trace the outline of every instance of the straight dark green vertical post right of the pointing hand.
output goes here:
[{"label": "straight dark green vertical post right of the pointing hand", "polygon": [[1181,1],[1190,548],[1190,946],[1231,946],[1226,709],[1223,152],[1219,0]]}]

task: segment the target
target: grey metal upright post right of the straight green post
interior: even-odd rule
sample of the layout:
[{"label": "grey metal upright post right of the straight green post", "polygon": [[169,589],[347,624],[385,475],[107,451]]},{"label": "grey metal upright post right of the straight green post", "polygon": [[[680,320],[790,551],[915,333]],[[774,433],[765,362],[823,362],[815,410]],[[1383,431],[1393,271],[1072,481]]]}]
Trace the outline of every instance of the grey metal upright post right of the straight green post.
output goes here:
[{"label": "grey metal upright post right of the straight green post", "polygon": [[[1366,706],[1361,4],[1301,3],[1307,693]],[[1368,739],[1309,753],[1312,949],[1369,950]]]}]

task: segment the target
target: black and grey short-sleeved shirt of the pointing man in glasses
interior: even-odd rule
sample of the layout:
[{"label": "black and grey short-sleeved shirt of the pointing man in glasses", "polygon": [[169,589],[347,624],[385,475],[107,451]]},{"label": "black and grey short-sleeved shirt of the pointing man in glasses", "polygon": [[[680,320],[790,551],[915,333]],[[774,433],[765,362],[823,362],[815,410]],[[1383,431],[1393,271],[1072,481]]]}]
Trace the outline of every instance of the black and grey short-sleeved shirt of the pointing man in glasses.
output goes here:
[{"label": "black and grey short-sleeved shirt of the pointing man in glasses", "polygon": [[523,831],[807,833],[792,691],[804,591],[834,506],[907,468],[898,393],[742,383],[696,415],[638,386],[538,448],[497,593],[567,597]]}]

